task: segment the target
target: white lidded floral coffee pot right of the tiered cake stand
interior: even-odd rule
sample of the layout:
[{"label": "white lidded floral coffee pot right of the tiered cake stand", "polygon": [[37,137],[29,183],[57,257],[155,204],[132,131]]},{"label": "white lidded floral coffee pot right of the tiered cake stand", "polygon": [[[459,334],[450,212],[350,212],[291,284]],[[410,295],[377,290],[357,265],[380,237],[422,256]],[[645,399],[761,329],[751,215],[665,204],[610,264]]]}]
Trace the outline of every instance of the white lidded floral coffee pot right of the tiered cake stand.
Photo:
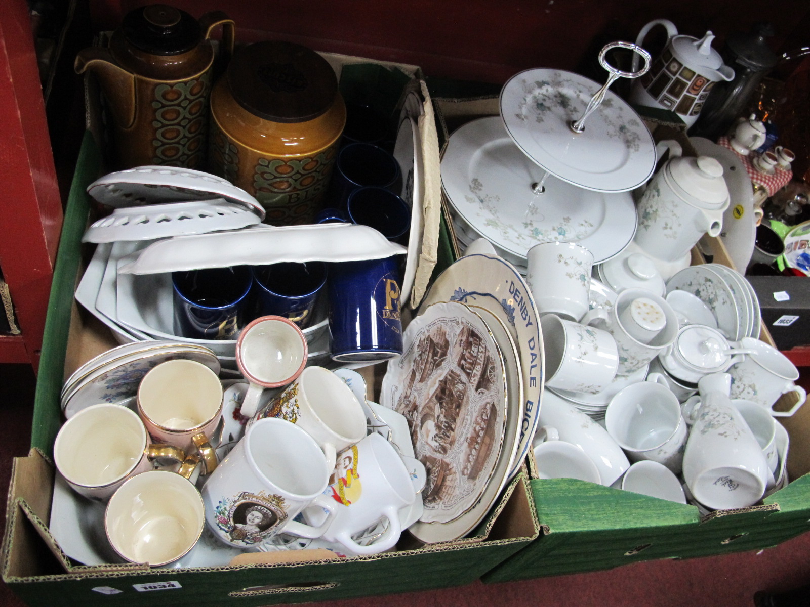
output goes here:
[{"label": "white lidded floral coffee pot right of the tiered cake stand", "polygon": [[638,201],[638,227],[633,240],[654,259],[685,259],[689,265],[689,251],[701,236],[718,236],[723,230],[728,188],[723,167],[716,159],[682,156],[676,142],[667,140],[659,143],[662,145],[670,148],[670,159],[653,176]]}]

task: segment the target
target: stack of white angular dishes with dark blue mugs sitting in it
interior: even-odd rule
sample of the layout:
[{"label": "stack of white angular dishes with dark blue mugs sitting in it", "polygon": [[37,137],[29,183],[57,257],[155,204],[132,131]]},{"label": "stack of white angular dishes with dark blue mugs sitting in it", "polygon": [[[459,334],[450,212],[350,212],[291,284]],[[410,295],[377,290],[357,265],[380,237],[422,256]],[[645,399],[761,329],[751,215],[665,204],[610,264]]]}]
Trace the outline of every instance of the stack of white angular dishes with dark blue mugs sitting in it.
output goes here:
[{"label": "stack of white angular dishes with dark blue mugs sitting in it", "polygon": [[[135,253],[153,240],[99,244],[79,282],[75,297],[104,325],[119,343],[169,340],[212,350],[224,367],[236,369],[236,344],[232,340],[194,339],[175,335],[172,275],[118,274],[123,257]],[[328,354],[326,306],[316,309],[313,325],[304,330],[310,359]]]}]

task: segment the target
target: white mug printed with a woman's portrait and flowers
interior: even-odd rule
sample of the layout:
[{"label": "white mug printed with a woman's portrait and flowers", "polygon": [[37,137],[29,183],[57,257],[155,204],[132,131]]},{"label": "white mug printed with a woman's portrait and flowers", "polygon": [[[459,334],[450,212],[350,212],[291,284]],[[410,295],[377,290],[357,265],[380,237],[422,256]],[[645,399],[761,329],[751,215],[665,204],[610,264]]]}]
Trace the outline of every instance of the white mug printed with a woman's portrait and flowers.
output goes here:
[{"label": "white mug printed with a woman's portrait and flowers", "polygon": [[[337,511],[335,501],[322,495],[330,470],[321,448],[300,427],[283,419],[260,419],[203,486],[208,528],[242,549],[281,531],[321,537]],[[328,511],[318,527],[293,520],[310,505]]]}]

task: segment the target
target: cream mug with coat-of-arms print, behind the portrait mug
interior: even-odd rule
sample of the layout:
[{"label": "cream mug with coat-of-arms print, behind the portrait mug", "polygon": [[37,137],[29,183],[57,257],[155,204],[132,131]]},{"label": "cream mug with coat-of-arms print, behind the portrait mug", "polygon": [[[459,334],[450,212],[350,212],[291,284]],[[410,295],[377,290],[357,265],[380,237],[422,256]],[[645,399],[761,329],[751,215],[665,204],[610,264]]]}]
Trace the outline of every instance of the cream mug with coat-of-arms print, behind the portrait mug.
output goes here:
[{"label": "cream mug with coat-of-arms print, behind the portrait mug", "polygon": [[306,367],[249,426],[262,418],[281,418],[303,428],[323,449],[330,469],[338,452],[366,435],[363,407],[352,388],[323,367]]}]

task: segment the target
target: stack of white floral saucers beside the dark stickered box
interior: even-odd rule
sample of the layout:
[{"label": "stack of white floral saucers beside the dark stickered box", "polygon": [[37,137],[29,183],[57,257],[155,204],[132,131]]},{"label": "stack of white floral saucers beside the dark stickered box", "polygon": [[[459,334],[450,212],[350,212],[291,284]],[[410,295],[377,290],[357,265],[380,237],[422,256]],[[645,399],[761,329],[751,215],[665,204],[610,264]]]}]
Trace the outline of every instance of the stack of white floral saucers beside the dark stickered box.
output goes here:
[{"label": "stack of white floral saucers beside the dark stickered box", "polygon": [[708,306],[717,325],[732,342],[759,339],[762,320],[757,294],[748,280],[725,265],[690,265],[667,281],[667,293],[686,291]]}]

